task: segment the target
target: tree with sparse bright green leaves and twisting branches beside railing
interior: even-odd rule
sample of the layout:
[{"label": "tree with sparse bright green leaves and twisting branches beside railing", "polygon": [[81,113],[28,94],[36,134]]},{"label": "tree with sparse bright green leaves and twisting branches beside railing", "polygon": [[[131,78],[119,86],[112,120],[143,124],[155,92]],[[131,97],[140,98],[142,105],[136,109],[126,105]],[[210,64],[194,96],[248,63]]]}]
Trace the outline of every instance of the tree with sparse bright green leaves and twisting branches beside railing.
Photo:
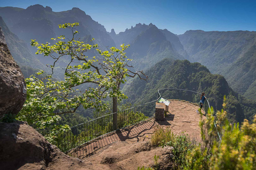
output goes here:
[{"label": "tree with sparse bright green leaves and twisting branches beside railing", "polygon": [[[36,54],[52,58],[52,73],[43,79],[34,75],[26,79],[27,101],[18,115],[18,120],[27,121],[44,135],[49,135],[48,139],[56,132],[68,129],[68,126],[57,124],[59,115],[74,113],[79,106],[104,111],[108,105],[103,100],[108,97],[113,98],[113,113],[116,113],[118,100],[126,98],[120,89],[121,83],[136,75],[140,79],[147,79],[142,71],[131,70],[131,60],[125,56],[125,49],[129,45],[121,45],[121,49],[111,47],[102,51],[97,44],[90,45],[75,38],[79,33],[75,30],[78,25],[79,23],[59,25],[59,28],[72,31],[71,39],[65,36],[52,38],[56,41],[52,45],[31,41],[31,46],[38,49]],[[98,55],[86,56],[89,50],[97,52]],[[53,79],[53,73],[62,59],[69,62],[65,67],[64,79],[58,81]],[[42,73],[40,71],[37,74]],[[117,129],[117,114],[114,114],[113,122],[113,128]]]}]

